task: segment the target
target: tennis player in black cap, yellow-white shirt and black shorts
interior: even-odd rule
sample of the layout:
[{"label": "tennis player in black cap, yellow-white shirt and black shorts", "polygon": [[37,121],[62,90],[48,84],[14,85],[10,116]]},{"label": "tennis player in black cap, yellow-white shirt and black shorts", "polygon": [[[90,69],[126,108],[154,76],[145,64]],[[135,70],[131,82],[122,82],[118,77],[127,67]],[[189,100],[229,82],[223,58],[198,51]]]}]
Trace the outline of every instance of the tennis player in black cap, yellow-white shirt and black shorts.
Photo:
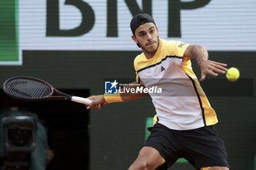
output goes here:
[{"label": "tennis player in black cap, yellow-white shirt and black shorts", "polygon": [[[129,170],[167,169],[178,158],[187,159],[198,170],[229,169],[225,145],[214,130],[217,115],[192,71],[190,59],[194,58],[200,67],[200,81],[205,80],[207,74],[225,74],[227,65],[208,60],[206,47],[159,39],[156,23],[148,14],[136,15],[130,27],[133,41],[143,52],[134,61],[136,83],[143,88],[163,87],[163,91],[172,95],[149,94],[157,117],[154,127],[148,128],[151,135]],[[148,81],[151,79],[155,81]],[[179,86],[183,93],[188,93],[187,96],[180,95]],[[90,96],[93,102],[87,109],[100,109],[105,104],[135,100],[145,95],[118,93],[114,96]]]}]

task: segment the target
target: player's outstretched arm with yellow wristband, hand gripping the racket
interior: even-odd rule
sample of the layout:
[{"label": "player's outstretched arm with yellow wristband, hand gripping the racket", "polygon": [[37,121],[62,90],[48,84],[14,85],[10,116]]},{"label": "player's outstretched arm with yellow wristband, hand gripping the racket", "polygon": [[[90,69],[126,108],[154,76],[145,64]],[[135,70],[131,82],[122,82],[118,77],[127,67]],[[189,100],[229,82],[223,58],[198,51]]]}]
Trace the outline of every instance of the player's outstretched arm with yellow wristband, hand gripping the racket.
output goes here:
[{"label": "player's outstretched arm with yellow wristband, hand gripping the racket", "polygon": [[[127,90],[122,90],[122,93],[118,94],[102,94],[102,95],[97,95],[97,96],[90,96],[88,99],[90,99],[92,102],[89,105],[86,105],[87,109],[101,109],[102,106],[110,103],[115,103],[115,102],[124,102],[124,101],[132,101],[136,100],[138,98],[142,98],[143,96],[146,96],[148,93],[131,93],[130,88],[138,88],[138,87],[143,87],[143,83],[138,84],[137,82],[132,82],[129,83],[127,87],[125,87]],[[143,91],[143,90],[142,90]]]}]

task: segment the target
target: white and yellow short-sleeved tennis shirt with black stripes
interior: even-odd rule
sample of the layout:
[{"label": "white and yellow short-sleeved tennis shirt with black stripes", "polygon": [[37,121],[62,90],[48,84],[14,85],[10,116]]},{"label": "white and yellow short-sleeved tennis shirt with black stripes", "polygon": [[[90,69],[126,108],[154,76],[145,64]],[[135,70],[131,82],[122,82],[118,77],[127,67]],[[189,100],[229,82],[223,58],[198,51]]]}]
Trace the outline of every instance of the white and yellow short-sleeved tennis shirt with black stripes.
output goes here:
[{"label": "white and yellow short-sleeved tennis shirt with black stripes", "polygon": [[149,93],[157,112],[158,123],[170,129],[189,130],[218,122],[214,109],[192,71],[190,58],[184,57],[189,45],[159,39],[154,57],[141,53],[134,66],[146,88],[162,88],[162,93]]}]

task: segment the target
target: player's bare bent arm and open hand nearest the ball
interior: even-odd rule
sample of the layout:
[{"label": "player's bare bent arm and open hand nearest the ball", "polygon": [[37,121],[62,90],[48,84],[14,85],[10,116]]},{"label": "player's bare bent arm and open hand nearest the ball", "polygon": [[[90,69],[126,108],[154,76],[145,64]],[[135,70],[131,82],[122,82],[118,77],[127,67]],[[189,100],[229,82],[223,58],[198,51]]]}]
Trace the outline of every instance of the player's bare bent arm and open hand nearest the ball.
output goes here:
[{"label": "player's bare bent arm and open hand nearest the ball", "polygon": [[185,50],[184,57],[194,58],[195,61],[197,61],[198,66],[201,69],[200,82],[206,79],[207,74],[218,76],[218,73],[225,74],[227,72],[227,69],[225,68],[227,64],[208,60],[208,51],[206,50],[206,47],[189,45],[187,50]]}]

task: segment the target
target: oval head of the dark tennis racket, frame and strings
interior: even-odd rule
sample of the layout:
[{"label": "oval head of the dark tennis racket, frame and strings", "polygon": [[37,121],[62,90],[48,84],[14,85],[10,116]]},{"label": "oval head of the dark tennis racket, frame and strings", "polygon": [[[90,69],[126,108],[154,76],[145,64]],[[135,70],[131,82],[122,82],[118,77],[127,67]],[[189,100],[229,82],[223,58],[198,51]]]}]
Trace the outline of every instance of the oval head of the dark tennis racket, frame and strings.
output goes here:
[{"label": "oval head of the dark tennis racket, frame and strings", "polygon": [[26,101],[44,100],[53,95],[54,88],[43,80],[34,77],[11,77],[4,82],[4,93],[12,98]]}]

